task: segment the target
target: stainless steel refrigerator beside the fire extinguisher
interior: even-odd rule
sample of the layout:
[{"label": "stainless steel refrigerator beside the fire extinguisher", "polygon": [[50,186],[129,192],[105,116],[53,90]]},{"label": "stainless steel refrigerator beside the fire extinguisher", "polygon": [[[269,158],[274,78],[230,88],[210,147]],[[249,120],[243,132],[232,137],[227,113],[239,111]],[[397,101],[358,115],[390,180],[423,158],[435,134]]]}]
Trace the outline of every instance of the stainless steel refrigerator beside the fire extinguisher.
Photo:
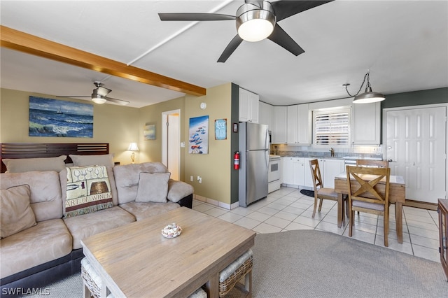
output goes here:
[{"label": "stainless steel refrigerator beside the fire extinguisher", "polygon": [[269,132],[267,125],[239,123],[239,206],[267,196]]}]

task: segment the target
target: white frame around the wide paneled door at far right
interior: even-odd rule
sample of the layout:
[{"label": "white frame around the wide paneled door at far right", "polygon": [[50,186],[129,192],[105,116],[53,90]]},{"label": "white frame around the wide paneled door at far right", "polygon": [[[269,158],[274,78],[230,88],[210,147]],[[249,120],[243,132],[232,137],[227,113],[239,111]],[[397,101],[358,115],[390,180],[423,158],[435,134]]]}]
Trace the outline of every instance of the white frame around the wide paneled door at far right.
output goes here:
[{"label": "white frame around the wide paneled door at far right", "polygon": [[382,111],[382,138],[381,143],[383,145],[383,159],[386,158],[386,134],[387,134],[387,112],[388,111],[400,111],[400,110],[410,110],[419,108],[445,108],[445,197],[440,199],[448,199],[448,104],[423,104],[419,106],[398,106],[395,108],[384,108]]}]

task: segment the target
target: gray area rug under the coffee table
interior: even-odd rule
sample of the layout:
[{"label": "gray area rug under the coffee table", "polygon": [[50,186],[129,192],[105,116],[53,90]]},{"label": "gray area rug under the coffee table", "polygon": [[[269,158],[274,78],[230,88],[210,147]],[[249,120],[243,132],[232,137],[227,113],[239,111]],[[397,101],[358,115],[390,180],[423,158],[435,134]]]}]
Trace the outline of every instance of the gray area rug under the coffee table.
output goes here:
[{"label": "gray area rug under the coffee table", "polygon": [[[252,278],[253,297],[448,297],[440,263],[315,230],[257,234]],[[45,288],[83,295],[80,274]]]}]

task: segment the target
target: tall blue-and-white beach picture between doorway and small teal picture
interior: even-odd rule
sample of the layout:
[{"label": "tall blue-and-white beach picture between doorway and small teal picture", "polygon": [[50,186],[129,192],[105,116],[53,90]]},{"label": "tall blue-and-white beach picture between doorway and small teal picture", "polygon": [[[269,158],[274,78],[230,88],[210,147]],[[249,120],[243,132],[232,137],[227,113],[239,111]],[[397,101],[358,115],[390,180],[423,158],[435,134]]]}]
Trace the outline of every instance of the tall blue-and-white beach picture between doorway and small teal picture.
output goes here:
[{"label": "tall blue-and-white beach picture between doorway and small teal picture", "polygon": [[209,154],[209,116],[190,118],[188,153]]}]

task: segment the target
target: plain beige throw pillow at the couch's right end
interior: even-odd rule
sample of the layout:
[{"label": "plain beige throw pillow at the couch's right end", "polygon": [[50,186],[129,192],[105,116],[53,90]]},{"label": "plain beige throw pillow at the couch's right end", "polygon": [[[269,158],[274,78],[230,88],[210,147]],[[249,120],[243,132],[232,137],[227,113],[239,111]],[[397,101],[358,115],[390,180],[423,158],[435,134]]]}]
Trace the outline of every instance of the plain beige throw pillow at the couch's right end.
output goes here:
[{"label": "plain beige throw pillow at the couch's right end", "polygon": [[135,201],[166,203],[171,173],[140,173]]}]

